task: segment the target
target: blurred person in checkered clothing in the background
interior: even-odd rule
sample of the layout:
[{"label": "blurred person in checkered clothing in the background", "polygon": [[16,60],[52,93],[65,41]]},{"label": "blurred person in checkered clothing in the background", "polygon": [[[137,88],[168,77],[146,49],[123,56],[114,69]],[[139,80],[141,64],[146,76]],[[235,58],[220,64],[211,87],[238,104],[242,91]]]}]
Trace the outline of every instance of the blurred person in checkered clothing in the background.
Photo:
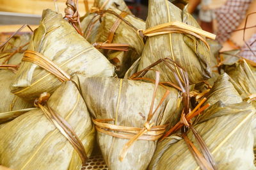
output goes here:
[{"label": "blurred person in checkered clothing in the background", "polygon": [[189,0],[188,11],[198,4],[200,26],[217,35],[221,52],[240,49],[240,56],[256,61],[256,0]]}]

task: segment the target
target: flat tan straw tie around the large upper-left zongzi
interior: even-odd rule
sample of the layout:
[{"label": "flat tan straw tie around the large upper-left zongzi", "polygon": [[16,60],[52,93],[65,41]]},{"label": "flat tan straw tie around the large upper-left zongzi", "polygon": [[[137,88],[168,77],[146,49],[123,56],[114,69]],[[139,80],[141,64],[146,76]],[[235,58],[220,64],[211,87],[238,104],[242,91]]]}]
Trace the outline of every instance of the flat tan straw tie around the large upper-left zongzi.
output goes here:
[{"label": "flat tan straw tie around the large upper-left zongzi", "polygon": [[22,61],[28,61],[44,68],[53,75],[56,75],[61,82],[70,80],[70,76],[66,72],[53,63],[51,59],[43,56],[39,52],[26,50]]}]

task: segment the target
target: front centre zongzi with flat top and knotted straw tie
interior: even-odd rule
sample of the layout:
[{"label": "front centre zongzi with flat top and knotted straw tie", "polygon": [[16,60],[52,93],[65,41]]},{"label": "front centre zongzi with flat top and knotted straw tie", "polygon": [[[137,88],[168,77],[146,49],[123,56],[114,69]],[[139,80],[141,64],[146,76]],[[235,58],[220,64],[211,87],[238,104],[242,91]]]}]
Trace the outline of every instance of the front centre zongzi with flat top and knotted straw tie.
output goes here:
[{"label": "front centre zongzi with flat top and knotted straw tie", "polygon": [[[109,77],[78,75],[74,81],[92,114],[97,142],[109,169],[147,169],[164,126],[179,121],[179,92],[168,88],[167,94],[162,86],[155,91],[156,86],[150,82]],[[156,111],[148,122],[152,109]],[[139,140],[134,139],[141,130],[146,133]]]}]

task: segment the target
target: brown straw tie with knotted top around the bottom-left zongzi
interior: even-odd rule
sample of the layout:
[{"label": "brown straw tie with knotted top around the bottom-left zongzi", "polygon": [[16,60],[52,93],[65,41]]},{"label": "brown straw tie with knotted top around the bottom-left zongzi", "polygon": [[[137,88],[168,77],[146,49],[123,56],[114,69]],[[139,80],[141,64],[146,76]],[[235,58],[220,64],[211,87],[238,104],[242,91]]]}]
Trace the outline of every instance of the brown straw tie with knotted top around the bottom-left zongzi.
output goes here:
[{"label": "brown straw tie with knotted top around the bottom-left zongzi", "polygon": [[79,137],[76,135],[74,129],[69,125],[69,123],[60,116],[60,114],[54,112],[49,105],[47,105],[47,100],[49,99],[49,93],[42,93],[39,98],[36,98],[34,105],[44,112],[46,118],[54,124],[61,134],[67,138],[69,143],[73,146],[74,150],[77,151],[79,157],[82,161],[81,169],[84,169],[86,161],[88,160],[86,151],[84,150],[83,143],[81,143]]}]

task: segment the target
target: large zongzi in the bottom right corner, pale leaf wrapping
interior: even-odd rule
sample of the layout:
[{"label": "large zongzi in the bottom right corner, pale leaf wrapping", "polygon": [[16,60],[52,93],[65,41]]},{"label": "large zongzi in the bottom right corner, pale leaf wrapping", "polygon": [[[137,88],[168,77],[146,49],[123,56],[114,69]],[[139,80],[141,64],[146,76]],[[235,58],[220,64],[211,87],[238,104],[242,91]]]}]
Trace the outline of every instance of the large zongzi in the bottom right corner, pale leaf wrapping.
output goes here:
[{"label": "large zongzi in the bottom right corner, pale leaf wrapping", "polygon": [[[253,164],[252,116],[255,109],[242,102],[225,105],[221,101],[203,113],[195,125],[218,169],[255,169]],[[195,143],[189,130],[188,137]],[[171,135],[157,144],[148,169],[200,169],[188,146],[179,135]]]}]

